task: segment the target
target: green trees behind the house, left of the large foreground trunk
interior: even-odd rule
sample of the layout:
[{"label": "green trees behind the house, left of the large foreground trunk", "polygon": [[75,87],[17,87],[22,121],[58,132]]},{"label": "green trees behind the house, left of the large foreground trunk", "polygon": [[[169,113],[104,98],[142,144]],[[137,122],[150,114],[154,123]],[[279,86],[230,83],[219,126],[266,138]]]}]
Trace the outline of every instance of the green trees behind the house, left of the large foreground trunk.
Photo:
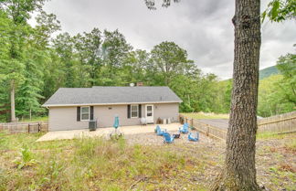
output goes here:
[{"label": "green trees behind the house, left of the large foreground trunk", "polygon": [[[181,111],[227,112],[228,106],[223,103],[226,89],[219,88],[217,77],[204,75],[187,58],[185,49],[174,42],[162,42],[151,52],[133,50],[118,30],[101,32],[99,28],[73,37],[62,33],[52,39],[51,35],[60,28],[57,17],[37,11],[36,27],[30,27],[25,19],[17,30],[10,27],[14,20],[9,12],[1,15],[7,37],[0,37],[4,45],[3,64],[0,63],[0,83],[4,88],[0,88],[0,100],[9,103],[10,81],[14,80],[17,117],[44,115],[46,111],[40,105],[59,87],[126,86],[138,81],[147,86],[171,87],[184,101]],[[16,36],[19,43],[12,44],[17,45],[16,58],[10,54],[9,46],[5,48],[10,30],[22,34]],[[220,93],[223,95],[217,97]],[[7,113],[9,109],[9,104],[0,106],[0,112]],[[1,115],[2,120],[8,117]]]}]

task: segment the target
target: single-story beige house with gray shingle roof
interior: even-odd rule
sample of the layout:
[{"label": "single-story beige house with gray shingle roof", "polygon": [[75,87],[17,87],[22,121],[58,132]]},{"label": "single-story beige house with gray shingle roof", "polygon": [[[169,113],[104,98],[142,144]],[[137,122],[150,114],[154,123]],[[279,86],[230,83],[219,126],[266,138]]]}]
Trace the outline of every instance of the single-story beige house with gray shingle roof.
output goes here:
[{"label": "single-story beige house with gray shingle roof", "polygon": [[181,99],[168,87],[101,87],[60,88],[43,106],[47,107],[48,130],[76,130],[89,128],[89,121],[97,126],[111,127],[114,116],[120,125],[139,125],[141,118],[155,123],[158,118],[178,121]]}]

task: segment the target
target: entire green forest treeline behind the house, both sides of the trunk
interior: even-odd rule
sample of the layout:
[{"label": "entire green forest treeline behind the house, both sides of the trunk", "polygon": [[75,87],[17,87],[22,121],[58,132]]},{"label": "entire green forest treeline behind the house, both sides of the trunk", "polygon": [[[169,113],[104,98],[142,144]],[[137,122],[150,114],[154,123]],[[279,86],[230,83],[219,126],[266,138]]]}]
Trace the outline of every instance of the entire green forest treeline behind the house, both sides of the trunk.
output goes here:
[{"label": "entire green forest treeline behind the house, both sides of the trunk", "polygon": [[[95,27],[71,36],[60,33],[57,17],[42,10],[43,1],[17,2],[0,3],[0,121],[10,121],[11,101],[19,119],[43,116],[41,105],[60,87],[139,81],[169,86],[183,100],[182,112],[229,111],[231,80],[203,73],[174,42],[147,51],[133,48],[119,30]],[[38,13],[34,27],[28,24],[32,12]],[[259,115],[295,109],[295,65],[295,54],[281,57],[281,75],[260,81]]]}]

